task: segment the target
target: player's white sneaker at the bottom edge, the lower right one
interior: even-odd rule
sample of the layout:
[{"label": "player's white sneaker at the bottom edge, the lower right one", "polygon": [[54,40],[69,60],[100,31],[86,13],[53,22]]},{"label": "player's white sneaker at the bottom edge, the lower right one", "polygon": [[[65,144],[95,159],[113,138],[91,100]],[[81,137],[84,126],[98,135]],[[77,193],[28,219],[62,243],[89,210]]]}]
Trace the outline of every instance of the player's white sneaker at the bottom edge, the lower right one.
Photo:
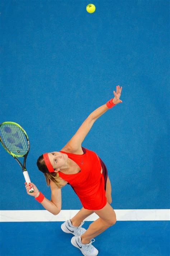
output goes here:
[{"label": "player's white sneaker at the bottom edge, the lower right one", "polygon": [[93,245],[91,245],[91,243],[94,242],[92,240],[95,241],[95,239],[93,238],[90,240],[90,243],[81,243],[81,235],[79,235],[77,237],[72,237],[71,243],[75,247],[79,248],[84,256],[96,256],[98,255],[99,251]]}]

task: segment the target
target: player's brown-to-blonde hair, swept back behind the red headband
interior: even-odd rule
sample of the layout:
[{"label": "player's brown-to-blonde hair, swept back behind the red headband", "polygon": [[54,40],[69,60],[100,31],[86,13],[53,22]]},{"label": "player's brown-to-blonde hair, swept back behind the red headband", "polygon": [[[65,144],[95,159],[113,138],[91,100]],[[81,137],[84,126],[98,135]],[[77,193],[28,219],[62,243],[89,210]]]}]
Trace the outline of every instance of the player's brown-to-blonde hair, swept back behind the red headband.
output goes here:
[{"label": "player's brown-to-blonde hair, swept back behind the red headband", "polygon": [[47,186],[49,187],[50,184],[50,180],[52,180],[58,188],[62,187],[62,178],[59,176],[58,172],[49,172],[46,166],[46,163],[44,161],[43,155],[41,155],[38,159],[37,159],[37,166],[38,169],[43,172],[45,178],[46,178],[46,182],[47,182]]}]

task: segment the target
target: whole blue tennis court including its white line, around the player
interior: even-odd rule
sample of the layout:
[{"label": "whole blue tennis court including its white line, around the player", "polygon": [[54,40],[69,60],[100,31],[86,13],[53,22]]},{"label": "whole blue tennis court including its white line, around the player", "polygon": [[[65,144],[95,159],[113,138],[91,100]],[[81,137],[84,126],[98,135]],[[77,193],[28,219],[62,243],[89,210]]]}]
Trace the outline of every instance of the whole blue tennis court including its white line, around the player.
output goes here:
[{"label": "whole blue tennis court including its white line, around the player", "polygon": [[[92,245],[99,256],[169,256],[169,1],[94,0],[94,13],[88,4],[1,1],[0,123],[27,132],[30,180],[51,200],[38,157],[60,151],[122,86],[122,103],[82,142],[107,166],[117,216]],[[2,146],[0,156],[0,256],[81,256],[61,230],[82,208],[71,186],[53,215],[26,193],[20,166]]]}]

